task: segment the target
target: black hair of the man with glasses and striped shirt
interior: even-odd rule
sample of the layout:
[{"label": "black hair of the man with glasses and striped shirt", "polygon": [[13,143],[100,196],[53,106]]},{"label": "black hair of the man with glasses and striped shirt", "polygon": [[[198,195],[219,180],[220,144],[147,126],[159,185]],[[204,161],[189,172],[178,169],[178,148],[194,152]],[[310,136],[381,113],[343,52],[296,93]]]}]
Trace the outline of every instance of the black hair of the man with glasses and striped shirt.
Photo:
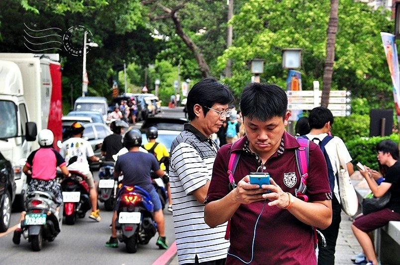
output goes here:
[{"label": "black hair of the man with glasses and striped shirt", "polygon": [[[199,104],[203,109],[204,116],[215,103],[222,105],[233,102],[232,92],[227,85],[218,82],[214,77],[206,77],[196,83],[188,94],[186,103],[188,109],[188,119],[191,121],[195,116],[193,107]],[[204,108],[207,107],[207,108]]]}]

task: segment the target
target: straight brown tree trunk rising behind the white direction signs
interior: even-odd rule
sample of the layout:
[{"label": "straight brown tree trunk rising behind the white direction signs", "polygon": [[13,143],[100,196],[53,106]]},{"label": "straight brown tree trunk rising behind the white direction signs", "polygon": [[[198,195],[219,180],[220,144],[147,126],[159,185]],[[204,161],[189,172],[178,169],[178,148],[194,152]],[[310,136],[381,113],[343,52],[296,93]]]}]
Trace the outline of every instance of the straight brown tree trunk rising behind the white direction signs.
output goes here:
[{"label": "straight brown tree trunk rising behind the white direction signs", "polygon": [[329,92],[332,84],[333,64],[335,61],[335,41],[338,24],[338,5],[338,0],[330,0],[330,17],[327,30],[326,59],[322,80],[322,107],[328,107]]}]

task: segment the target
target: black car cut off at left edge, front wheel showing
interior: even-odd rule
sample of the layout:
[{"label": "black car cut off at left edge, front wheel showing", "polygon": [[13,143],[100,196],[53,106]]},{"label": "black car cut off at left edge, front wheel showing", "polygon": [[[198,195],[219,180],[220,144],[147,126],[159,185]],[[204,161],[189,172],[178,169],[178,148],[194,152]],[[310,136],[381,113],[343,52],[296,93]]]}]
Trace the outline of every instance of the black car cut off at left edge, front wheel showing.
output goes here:
[{"label": "black car cut off at left edge, front wheel showing", "polygon": [[0,233],[7,231],[9,227],[15,189],[11,163],[0,153]]}]

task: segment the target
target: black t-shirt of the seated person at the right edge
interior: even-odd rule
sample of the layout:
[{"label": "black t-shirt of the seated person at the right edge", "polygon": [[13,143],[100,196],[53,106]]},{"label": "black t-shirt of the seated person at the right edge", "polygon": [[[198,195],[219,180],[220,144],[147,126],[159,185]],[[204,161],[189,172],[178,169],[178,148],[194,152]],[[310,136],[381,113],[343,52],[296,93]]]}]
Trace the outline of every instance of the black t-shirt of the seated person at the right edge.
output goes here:
[{"label": "black t-shirt of the seated person at the right edge", "polygon": [[400,161],[388,168],[384,182],[392,183],[389,189],[392,195],[387,207],[400,213]]}]

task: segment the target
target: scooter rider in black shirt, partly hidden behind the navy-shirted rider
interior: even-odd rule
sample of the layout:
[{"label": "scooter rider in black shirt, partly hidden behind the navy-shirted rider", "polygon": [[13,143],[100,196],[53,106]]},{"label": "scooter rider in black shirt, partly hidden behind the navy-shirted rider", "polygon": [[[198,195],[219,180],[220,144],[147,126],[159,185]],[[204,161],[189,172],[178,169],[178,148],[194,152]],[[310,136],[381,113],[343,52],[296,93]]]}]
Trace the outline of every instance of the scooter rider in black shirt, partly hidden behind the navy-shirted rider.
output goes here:
[{"label": "scooter rider in black shirt, partly hidden behind the navy-shirted rider", "polygon": [[105,137],[101,145],[101,155],[105,156],[105,161],[114,162],[112,156],[123,148],[122,134],[124,133],[124,128],[128,127],[128,124],[121,120],[113,121],[110,124],[110,129],[113,134]]}]

